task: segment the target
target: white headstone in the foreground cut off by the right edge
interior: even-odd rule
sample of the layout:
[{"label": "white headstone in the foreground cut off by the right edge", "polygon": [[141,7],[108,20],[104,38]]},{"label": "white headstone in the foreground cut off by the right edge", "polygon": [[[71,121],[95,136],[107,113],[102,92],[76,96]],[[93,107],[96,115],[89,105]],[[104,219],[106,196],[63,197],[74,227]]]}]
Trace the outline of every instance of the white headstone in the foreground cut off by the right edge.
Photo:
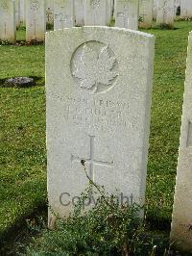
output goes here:
[{"label": "white headstone in the foreground cut off by the right edge", "polygon": [[176,192],[172,219],[171,241],[177,248],[192,251],[192,33],[189,35],[188,57]]}]

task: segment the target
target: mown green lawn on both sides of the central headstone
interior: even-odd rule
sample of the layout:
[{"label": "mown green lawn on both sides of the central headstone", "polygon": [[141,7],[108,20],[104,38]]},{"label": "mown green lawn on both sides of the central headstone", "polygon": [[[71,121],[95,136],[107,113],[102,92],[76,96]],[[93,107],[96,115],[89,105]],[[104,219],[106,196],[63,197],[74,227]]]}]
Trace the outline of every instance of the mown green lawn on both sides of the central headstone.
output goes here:
[{"label": "mown green lawn on both sides of the central headstone", "polygon": [[[180,139],[187,38],[192,22],[156,36],[152,125],[147,180],[148,218],[171,220]],[[23,39],[19,32],[19,39]],[[46,204],[44,46],[1,46],[0,83],[36,78],[32,89],[0,89],[0,237]]]}]

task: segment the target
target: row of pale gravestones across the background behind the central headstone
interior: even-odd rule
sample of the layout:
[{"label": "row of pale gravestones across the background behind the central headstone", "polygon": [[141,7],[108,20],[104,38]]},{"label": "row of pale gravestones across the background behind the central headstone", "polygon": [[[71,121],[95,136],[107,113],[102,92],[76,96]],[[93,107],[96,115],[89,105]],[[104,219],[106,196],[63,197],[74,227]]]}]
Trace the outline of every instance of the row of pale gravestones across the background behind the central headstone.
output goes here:
[{"label": "row of pale gravestones across the background behind the central headstone", "polygon": [[[174,1],[157,1],[158,25],[174,26]],[[46,21],[58,30],[75,25],[106,26],[114,17],[116,27],[137,30],[138,20],[140,27],[152,26],[153,10],[154,0],[0,0],[0,39],[15,41],[19,20],[26,23],[27,41],[44,40]]]}]

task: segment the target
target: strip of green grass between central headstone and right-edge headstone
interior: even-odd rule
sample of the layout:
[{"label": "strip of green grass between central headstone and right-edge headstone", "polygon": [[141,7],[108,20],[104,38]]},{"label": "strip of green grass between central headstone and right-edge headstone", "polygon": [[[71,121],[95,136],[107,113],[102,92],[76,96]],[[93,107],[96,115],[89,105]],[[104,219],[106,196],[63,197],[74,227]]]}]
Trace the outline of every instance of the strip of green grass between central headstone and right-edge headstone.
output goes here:
[{"label": "strip of green grass between central headstone and right-edge headstone", "polygon": [[[154,91],[148,165],[149,218],[171,221],[180,141],[188,33],[192,22],[177,30],[150,30],[156,36]],[[162,224],[163,226],[163,224]]]}]

